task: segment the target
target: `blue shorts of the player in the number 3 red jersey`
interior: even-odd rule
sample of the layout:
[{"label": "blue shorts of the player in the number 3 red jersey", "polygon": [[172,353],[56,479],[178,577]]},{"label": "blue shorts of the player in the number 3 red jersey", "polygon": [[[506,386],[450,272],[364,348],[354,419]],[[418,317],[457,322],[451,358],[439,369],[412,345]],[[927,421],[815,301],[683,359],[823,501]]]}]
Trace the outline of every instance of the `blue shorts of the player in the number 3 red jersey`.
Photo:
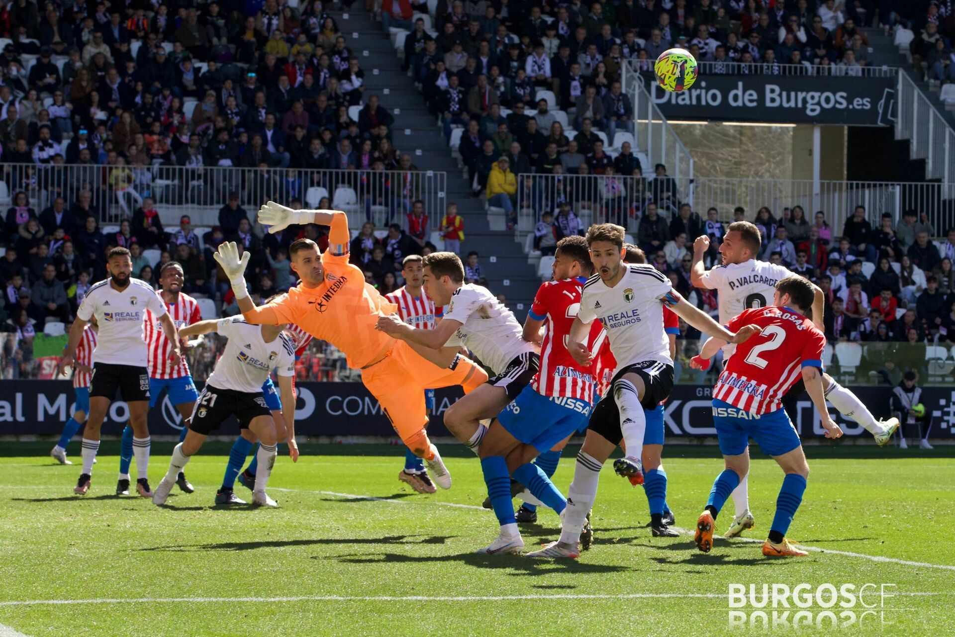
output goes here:
[{"label": "blue shorts of the player in the number 3 red jersey", "polygon": [[590,409],[585,400],[544,396],[528,385],[498,414],[498,421],[508,434],[542,454],[568,435],[586,429]]}]

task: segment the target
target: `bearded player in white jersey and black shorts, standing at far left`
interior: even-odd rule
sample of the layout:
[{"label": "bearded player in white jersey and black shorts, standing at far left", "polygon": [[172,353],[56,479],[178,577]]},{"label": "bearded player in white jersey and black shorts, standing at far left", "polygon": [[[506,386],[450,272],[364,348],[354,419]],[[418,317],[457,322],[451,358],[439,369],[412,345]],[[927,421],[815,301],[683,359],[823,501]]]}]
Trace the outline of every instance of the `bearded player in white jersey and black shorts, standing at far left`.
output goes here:
[{"label": "bearded player in white jersey and black shorts, standing at far left", "polygon": [[149,371],[146,369],[146,340],[143,337],[146,310],[158,317],[166,334],[172,334],[170,358],[174,365],[179,364],[181,357],[179,335],[156,291],[146,282],[130,276],[133,261],[129,250],[124,247],[110,250],[106,269],[110,278],[91,287],[76,310],[70,340],[57,366],[57,371],[62,372],[73,363],[83,329],[96,316],[99,334],[93,351],[90,416],[83,432],[83,473],[76,481],[74,493],[85,495],[90,489],[93,461],[99,450],[99,431],[118,391],[129,407],[129,422],[133,426],[138,472],[136,488],[140,496],[151,498],[153,493],[147,479],[150,438],[146,426]]}]

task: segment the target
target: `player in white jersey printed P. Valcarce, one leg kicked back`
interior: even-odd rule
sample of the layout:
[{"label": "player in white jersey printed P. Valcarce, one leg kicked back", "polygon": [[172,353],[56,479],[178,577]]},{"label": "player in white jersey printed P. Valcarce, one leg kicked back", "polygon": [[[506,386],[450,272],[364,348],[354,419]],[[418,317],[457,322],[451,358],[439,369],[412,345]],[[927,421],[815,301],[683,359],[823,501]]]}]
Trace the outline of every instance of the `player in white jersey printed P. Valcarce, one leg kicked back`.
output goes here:
[{"label": "player in white jersey printed P. Valcarce, one leg kicked back", "polygon": [[[773,305],[775,285],[793,273],[782,265],[756,261],[755,256],[762,244],[759,228],[749,222],[734,222],[727,228],[719,252],[723,256],[722,264],[706,270],[703,257],[710,248],[710,238],[698,237],[693,243],[693,264],[690,282],[695,287],[715,289],[719,297],[719,321],[723,325],[738,316],[744,309],[765,308]],[[814,315],[813,322],[822,329],[822,316]],[[707,341],[699,357],[694,358],[693,367],[708,369],[709,360],[719,346],[723,346],[725,357],[732,355],[732,344],[723,341]],[[859,400],[859,397],[839,385],[828,373],[822,374],[822,386],[826,399],[833,404],[839,414],[851,418],[874,435],[881,446],[888,443],[899,427],[897,418],[876,420],[872,412]],[[806,391],[800,379],[784,398],[791,402]],[[793,414],[795,419],[795,414]],[[725,537],[733,538],[746,529],[753,528],[753,515],[750,513],[749,474],[743,477],[732,492],[732,501],[736,516]]]}]

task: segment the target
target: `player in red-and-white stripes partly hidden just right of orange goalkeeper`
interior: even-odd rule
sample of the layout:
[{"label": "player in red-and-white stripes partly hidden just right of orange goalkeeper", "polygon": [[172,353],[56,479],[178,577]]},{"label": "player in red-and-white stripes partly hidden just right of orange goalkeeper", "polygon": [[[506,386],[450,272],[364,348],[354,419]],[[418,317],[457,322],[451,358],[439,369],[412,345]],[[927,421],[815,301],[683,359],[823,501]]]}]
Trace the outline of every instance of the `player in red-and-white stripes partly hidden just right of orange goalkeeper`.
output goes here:
[{"label": "player in red-and-white stripes partly hidden just right of orange goalkeeper", "polygon": [[[434,302],[421,288],[424,278],[423,261],[418,254],[405,257],[401,262],[401,276],[405,279],[405,285],[398,287],[391,294],[386,294],[385,298],[398,307],[398,317],[414,329],[435,329],[438,311]],[[425,406],[428,408],[428,414],[435,411],[435,390],[425,391]],[[398,479],[418,493],[437,491],[424,467],[424,460],[415,456],[411,449],[405,449],[405,466],[398,472]]]}]

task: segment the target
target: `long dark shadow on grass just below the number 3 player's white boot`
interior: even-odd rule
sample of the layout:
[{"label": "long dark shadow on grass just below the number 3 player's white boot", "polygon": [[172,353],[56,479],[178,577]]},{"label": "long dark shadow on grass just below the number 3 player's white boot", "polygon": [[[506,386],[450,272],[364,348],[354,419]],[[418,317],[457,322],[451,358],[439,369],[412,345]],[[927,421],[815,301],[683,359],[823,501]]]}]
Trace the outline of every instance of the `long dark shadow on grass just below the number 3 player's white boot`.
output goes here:
[{"label": "long dark shadow on grass just below the number 3 player's white boot", "polygon": [[486,553],[456,553],[454,555],[420,556],[381,553],[376,556],[326,558],[312,556],[312,560],[337,559],[341,563],[380,564],[380,563],[422,563],[422,562],[458,562],[475,568],[507,569],[514,571],[511,576],[539,576],[549,573],[625,573],[636,568],[620,564],[593,564],[578,560],[535,560],[520,555],[488,555]]}]

